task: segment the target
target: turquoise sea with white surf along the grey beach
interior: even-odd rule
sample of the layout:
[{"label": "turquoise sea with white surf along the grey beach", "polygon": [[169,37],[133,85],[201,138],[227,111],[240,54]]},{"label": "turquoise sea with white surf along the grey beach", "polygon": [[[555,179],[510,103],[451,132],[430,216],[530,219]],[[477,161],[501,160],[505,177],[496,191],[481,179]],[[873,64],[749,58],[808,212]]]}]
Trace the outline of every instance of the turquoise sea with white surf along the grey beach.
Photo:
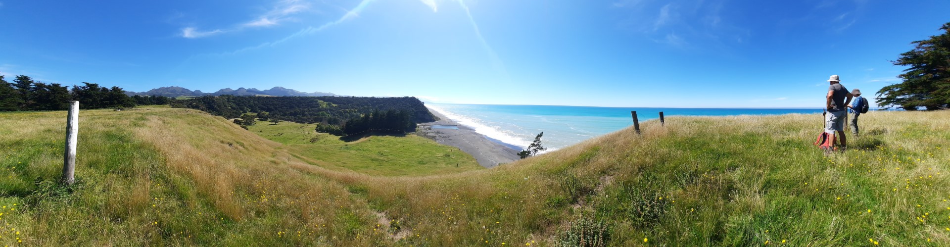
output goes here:
[{"label": "turquoise sea with white surf along the grey beach", "polygon": [[426,104],[449,119],[498,142],[524,148],[540,132],[549,150],[560,149],[664,116],[733,116],[821,113],[822,108],[645,108],[507,104]]}]

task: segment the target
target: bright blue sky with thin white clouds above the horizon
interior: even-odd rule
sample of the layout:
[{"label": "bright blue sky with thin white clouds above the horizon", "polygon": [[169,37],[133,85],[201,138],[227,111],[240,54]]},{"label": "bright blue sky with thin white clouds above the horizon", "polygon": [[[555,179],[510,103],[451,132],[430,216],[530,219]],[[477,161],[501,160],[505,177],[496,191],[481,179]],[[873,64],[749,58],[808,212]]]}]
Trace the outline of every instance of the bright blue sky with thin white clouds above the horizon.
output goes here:
[{"label": "bright blue sky with thin white clouds above the horizon", "polygon": [[950,1],[0,0],[0,72],[433,103],[821,107],[872,96]]}]

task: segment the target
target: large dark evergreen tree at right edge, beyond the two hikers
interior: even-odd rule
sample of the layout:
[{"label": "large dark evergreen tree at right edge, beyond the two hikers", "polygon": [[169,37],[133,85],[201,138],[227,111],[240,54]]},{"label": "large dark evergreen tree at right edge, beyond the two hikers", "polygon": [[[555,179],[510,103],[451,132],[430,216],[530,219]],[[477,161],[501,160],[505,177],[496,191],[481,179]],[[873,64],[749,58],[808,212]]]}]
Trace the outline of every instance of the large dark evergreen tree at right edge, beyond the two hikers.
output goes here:
[{"label": "large dark evergreen tree at right edge, beyond the two hikers", "polygon": [[878,91],[878,105],[894,105],[905,110],[919,106],[927,110],[950,108],[950,23],[943,24],[940,35],[915,41],[914,49],[903,52],[896,66],[910,66],[899,75],[903,82]]}]

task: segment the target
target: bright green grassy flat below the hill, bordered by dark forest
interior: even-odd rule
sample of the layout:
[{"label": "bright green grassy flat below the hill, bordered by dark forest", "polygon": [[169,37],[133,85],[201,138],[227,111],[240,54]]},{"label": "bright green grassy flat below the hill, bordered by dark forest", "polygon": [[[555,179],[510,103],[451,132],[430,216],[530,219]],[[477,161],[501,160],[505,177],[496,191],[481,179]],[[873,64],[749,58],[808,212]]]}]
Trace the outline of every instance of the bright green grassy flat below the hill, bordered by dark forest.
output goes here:
[{"label": "bright green grassy flat below the hill, bordered by dark forest", "polygon": [[287,144],[296,158],[330,169],[379,176],[427,176],[485,169],[458,148],[419,136],[341,138],[315,133],[316,124],[258,121],[248,129],[263,138]]}]

